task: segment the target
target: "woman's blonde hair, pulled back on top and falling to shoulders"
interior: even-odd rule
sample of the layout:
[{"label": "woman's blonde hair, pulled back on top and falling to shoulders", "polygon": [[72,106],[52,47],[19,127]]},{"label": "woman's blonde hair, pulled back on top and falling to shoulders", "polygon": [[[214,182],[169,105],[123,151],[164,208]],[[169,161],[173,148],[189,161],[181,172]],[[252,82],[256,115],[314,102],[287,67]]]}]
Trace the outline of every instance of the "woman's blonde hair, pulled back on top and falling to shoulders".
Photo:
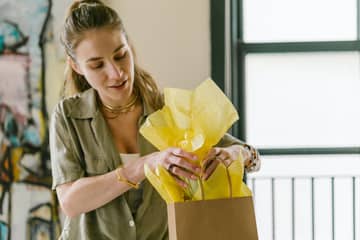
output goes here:
[{"label": "woman's blonde hair, pulled back on top and falling to shoulders", "polygon": [[[116,11],[99,0],[75,1],[69,8],[61,33],[61,43],[69,58],[75,61],[75,49],[81,42],[86,31],[99,28],[118,29],[126,39],[127,34],[124,25]],[[134,48],[131,46],[131,51]],[[135,57],[134,57],[135,58]],[[159,87],[151,75],[134,64],[134,87],[139,90],[144,103],[154,110],[163,106],[163,98]],[[91,88],[84,76],[75,72],[67,62],[65,69],[65,82],[62,96],[68,97]]]}]

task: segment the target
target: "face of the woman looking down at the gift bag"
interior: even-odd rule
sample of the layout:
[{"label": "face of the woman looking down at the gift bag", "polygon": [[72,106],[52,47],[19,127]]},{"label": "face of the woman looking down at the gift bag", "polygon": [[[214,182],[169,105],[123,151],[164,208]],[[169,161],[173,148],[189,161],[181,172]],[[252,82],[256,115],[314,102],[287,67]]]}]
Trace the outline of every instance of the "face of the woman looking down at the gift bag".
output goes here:
[{"label": "face of the woman looking down at the gift bag", "polygon": [[121,31],[103,28],[85,32],[75,56],[71,66],[84,75],[101,101],[112,106],[127,103],[134,85],[134,59]]}]

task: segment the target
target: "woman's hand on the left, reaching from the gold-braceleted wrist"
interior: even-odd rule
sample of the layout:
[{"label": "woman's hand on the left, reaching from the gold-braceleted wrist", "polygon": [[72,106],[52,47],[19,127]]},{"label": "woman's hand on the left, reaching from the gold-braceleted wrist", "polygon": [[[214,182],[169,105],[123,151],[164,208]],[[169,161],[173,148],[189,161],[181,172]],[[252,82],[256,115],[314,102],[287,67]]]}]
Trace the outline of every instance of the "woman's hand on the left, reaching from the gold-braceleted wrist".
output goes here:
[{"label": "woman's hand on the left, reaching from the gold-braceleted wrist", "polygon": [[196,180],[201,174],[201,168],[195,164],[196,160],[195,154],[173,147],[149,154],[145,163],[152,170],[155,170],[158,165],[164,167],[180,186],[187,187],[182,178]]}]

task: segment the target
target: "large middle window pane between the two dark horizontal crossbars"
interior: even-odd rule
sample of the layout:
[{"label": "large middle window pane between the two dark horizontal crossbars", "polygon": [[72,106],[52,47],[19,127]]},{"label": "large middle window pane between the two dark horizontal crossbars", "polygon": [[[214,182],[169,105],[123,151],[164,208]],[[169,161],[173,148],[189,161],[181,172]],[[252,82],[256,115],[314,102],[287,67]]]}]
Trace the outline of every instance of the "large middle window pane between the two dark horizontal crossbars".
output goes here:
[{"label": "large middle window pane between the two dark horizontal crossbars", "polygon": [[248,142],[359,146],[359,66],[359,55],[352,52],[248,55]]}]

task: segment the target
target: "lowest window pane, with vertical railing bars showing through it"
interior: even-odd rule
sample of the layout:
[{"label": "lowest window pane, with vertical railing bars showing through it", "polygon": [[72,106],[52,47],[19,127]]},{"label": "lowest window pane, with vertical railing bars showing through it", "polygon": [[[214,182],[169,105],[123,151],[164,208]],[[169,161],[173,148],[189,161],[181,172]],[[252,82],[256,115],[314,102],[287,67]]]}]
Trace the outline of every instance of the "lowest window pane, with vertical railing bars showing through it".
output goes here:
[{"label": "lowest window pane, with vertical railing bars showing through it", "polygon": [[[272,189],[276,239],[291,239],[292,204],[294,204],[295,239],[311,239],[312,178],[314,183],[315,239],[331,239],[332,177],[334,177],[334,213],[336,239],[352,239],[360,229],[360,155],[262,156],[262,169],[249,174],[247,185],[253,190],[259,236],[271,236]],[[294,178],[292,183],[291,179]],[[353,177],[356,177],[353,180]],[[273,186],[271,185],[273,180]],[[293,185],[292,185],[293,184]],[[353,192],[355,184],[355,192]],[[272,188],[273,187],[273,188]],[[293,188],[292,188],[293,187]],[[294,202],[292,202],[294,190]],[[356,210],[356,211],[354,211]],[[269,216],[270,215],[270,216]],[[285,227],[284,227],[285,226]]]}]

